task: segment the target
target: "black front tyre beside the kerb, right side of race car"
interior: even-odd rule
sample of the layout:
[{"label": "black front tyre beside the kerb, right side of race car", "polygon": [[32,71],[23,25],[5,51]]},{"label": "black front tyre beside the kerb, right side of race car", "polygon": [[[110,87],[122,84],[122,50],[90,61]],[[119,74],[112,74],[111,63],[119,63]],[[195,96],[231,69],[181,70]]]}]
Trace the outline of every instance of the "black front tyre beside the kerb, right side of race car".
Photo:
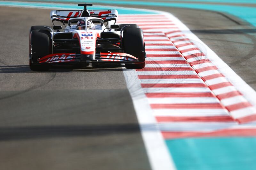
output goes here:
[{"label": "black front tyre beside the kerb, right side of race car", "polygon": [[145,44],[144,36],[141,28],[130,28],[124,30],[123,33],[123,48],[124,53],[133,55],[139,58],[142,63],[139,64],[125,64],[127,69],[143,69],[145,62]]}]

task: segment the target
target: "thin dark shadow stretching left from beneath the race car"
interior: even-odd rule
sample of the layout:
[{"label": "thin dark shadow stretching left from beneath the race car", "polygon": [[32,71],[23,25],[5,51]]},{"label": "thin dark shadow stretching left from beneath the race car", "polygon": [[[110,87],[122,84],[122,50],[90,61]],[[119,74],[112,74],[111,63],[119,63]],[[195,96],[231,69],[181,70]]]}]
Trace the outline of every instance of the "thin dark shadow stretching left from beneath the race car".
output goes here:
[{"label": "thin dark shadow stretching left from beneath the race car", "polygon": [[28,65],[4,65],[0,66],[0,73],[33,73],[33,72],[97,72],[97,71],[123,71],[128,70],[124,65],[101,65],[97,67],[75,67],[64,65],[53,65],[48,71],[32,71]]}]

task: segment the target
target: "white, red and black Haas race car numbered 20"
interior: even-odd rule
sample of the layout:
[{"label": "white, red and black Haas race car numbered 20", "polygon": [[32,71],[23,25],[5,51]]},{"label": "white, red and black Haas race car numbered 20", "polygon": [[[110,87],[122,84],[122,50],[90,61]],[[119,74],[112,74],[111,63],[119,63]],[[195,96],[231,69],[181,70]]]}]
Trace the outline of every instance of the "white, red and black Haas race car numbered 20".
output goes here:
[{"label": "white, red and black Haas race car numbered 20", "polygon": [[65,26],[31,26],[29,67],[48,70],[51,64],[125,64],[127,69],[145,67],[143,31],[135,24],[115,25],[116,10],[51,11],[52,23]]}]

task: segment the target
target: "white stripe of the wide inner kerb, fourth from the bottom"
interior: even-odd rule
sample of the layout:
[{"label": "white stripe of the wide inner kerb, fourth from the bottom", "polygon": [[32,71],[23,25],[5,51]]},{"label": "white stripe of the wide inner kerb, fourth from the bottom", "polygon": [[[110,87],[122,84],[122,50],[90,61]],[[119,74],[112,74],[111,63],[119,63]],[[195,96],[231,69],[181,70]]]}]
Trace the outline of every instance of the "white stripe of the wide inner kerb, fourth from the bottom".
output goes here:
[{"label": "white stripe of the wide inner kerb, fourth from the bottom", "polygon": [[145,93],[171,93],[171,92],[211,92],[208,87],[187,87],[187,88],[143,88]]}]

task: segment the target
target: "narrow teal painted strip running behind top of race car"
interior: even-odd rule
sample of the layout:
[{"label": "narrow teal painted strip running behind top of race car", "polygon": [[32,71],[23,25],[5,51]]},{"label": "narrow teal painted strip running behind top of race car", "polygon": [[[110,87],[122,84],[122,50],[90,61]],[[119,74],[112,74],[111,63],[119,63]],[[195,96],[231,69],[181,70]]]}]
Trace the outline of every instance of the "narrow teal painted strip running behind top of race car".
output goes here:
[{"label": "narrow teal painted strip running behind top of race car", "polygon": [[[12,2],[12,1],[0,1],[0,6],[19,6],[19,7],[29,7],[29,8],[47,8],[47,9],[65,9],[65,10],[77,10],[83,9],[84,7],[77,6],[77,4],[53,4],[53,3],[33,3],[33,2]],[[106,6],[92,6],[88,9],[109,9]],[[156,14],[157,12],[151,12],[146,10],[133,10],[124,8],[115,8],[119,14]]]}]

